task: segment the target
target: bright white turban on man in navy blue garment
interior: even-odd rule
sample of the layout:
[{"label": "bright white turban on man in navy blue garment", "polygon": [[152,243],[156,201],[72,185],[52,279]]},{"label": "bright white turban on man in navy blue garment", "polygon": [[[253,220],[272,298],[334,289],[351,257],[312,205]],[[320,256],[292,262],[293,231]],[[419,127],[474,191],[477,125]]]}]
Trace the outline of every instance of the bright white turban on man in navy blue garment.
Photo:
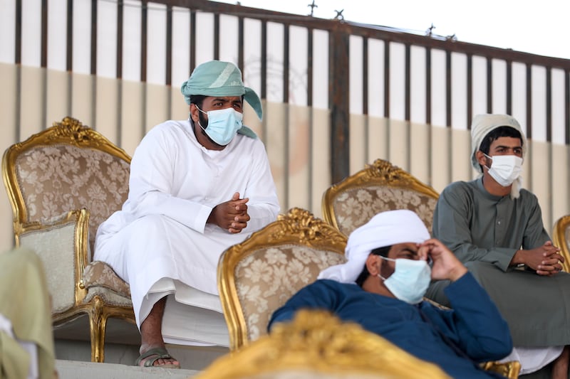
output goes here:
[{"label": "bright white turban on man in navy blue garment", "polygon": [[372,250],[396,243],[421,243],[430,239],[425,224],[413,211],[388,210],[378,213],[348,237],[344,255],[347,262],[323,269],[318,279],[353,283],[361,274]]}]

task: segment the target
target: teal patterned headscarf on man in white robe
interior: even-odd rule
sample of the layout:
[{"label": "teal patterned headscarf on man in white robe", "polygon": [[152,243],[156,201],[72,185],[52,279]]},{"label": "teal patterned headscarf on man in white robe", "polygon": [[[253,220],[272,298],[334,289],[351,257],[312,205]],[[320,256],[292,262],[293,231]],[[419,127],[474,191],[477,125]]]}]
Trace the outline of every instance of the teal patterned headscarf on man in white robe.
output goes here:
[{"label": "teal patterned headscarf on man in white robe", "polygon": [[210,60],[198,65],[190,78],[180,88],[186,103],[190,105],[191,95],[204,96],[244,96],[244,100],[252,106],[257,117],[263,117],[259,96],[242,82],[242,71],[237,65],[221,60]]}]

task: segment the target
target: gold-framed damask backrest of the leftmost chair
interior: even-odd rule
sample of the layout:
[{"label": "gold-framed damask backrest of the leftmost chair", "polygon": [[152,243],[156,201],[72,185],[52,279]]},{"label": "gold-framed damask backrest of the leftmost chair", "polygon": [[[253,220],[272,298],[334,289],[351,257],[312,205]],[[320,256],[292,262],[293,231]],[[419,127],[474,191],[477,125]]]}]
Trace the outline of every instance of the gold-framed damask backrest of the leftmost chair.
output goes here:
[{"label": "gold-framed damask backrest of the leftmost chair", "polygon": [[130,156],[71,117],[10,146],[2,159],[14,230],[70,210],[89,210],[89,247],[128,196]]}]

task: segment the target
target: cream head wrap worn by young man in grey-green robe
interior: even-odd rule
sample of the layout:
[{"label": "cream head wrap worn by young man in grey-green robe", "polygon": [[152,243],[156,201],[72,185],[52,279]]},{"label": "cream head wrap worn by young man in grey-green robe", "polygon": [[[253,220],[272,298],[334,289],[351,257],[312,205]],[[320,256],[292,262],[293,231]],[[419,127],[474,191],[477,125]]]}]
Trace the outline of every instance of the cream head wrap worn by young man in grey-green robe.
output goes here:
[{"label": "cream head wrap worn by young man in grey-green robe", "polygon": [[[475,154],[479,151],[484,137],[498,127],[512,127],[513,129],[517,129],[522,139],[522,158],[524,159],[524,156],[527,155],[527,137],[524,137],[524,132],[517,119],[509,116],[509,114],[477,114],[477,116],[473,117],[471,124],[471,165],[480,173],[483,171]],[[522,179],[519,177],[514,181],[511,188],[512,198],[519,197],[521,186]]]}]

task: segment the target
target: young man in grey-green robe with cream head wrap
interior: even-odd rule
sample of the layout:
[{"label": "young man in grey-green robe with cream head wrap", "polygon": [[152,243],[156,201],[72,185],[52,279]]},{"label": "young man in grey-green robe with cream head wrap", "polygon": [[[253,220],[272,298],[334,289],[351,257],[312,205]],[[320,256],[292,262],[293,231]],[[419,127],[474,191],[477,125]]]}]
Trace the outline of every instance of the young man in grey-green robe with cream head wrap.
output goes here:
[{"label": "young man in grey-green robe with cream head wrap", "polygon": [[[564,257],[544,229],[537,196],[522,188],[527,139],[508,114],[478,114],[471,137],[471,164],[481,176],[442,191],[433,236],[497,304],[515,346],[509,359],[521,363],[521,373],[540,370],[534,378],[566,379],[570,274],[561,272]],[[446,285],[432,283],[426,297],[447,305]]]}]

